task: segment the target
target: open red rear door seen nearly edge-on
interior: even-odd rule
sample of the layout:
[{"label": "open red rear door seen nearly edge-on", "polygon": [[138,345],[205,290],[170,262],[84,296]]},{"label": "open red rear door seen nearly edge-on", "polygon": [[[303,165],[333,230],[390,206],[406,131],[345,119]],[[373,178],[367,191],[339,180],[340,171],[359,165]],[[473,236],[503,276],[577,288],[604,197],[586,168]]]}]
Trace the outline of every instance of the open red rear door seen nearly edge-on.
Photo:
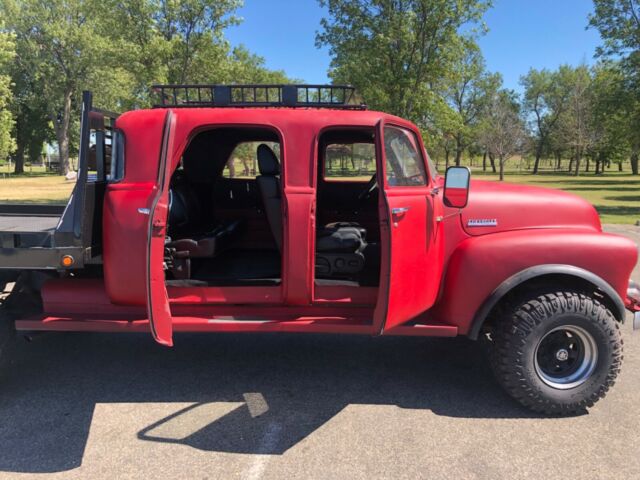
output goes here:
[{"label": "open red rear door seen nearly edge-on", "polygon": [[173,327],[169,296],[164,278],[164,244],[169,209],[169,180],[171,179],[171,153],[175,135],[175,116],[167,112],[162,135],[162,150],[158,165],[158,179],[151,195],[148,210],[140,213],[149,215],[147,248],[147,314],[153,338],[162,345],[173,345]]}]

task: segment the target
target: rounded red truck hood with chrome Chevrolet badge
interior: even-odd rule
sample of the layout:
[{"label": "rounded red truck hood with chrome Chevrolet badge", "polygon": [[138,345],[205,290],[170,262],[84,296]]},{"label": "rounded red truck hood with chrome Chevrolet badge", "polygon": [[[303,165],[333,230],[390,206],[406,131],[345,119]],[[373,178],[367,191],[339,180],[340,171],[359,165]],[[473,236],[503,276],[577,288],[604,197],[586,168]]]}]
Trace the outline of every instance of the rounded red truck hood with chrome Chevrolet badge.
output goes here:
[{"label": "rounded red truck hood with chrome Chevrolet badge", "polygon": [[600,217],[586,200],[552,188],[472,180],[462,210],[469,235],[525,228],[579,228],[601,231]]}]

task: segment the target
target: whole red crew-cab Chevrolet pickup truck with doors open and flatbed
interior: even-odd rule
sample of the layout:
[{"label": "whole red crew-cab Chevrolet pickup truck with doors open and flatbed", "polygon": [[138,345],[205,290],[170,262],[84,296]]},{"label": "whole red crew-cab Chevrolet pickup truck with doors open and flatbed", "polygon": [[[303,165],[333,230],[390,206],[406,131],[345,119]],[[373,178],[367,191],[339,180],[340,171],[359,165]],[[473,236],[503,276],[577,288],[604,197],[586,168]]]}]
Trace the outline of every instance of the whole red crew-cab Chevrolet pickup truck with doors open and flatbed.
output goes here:
[{"label": "whole red crew-cab Chevrolet pickup truck with doors open and flatbed", "polygon": [[0,211],[0,269],[39,305],[15,330],[465,335],[548,414],[614,383],[637,247],[589,203],[443,177],[351,87],[153,91],[119,116],[85,92],[68,205]]}]

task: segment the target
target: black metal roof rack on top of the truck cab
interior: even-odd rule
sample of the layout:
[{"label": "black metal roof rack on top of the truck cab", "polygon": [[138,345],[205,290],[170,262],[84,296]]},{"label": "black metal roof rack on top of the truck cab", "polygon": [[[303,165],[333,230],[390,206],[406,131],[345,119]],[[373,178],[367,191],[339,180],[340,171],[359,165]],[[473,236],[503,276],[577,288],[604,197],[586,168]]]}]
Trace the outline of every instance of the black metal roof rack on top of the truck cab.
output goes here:
[{"label": "black metal roof rack on top of the truck cab", "polygon": [[153,85],[151,95],[155,108],[367,108],[350,85]]}]

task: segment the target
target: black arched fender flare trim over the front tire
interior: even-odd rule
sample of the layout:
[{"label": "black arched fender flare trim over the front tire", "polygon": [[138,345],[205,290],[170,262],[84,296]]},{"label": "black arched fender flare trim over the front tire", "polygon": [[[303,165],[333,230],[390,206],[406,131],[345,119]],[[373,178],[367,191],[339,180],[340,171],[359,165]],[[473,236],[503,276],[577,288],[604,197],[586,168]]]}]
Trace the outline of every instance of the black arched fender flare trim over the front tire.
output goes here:
[{"label": "black arched fender flare trim over the front tire", "polygon": [[485,320],[491,313],[491,310],[514,288],[518,285],[531,280],[536,277],[542,277],[546,275],[563,275],[567,277],[580,278],[594,285],[605,295],[613,304],[613,315],[620,322],[624,321],[625,309],[624,302],[618,292],[609,285],[605,280],[600,278],[593,272],[589,272],[583,268],[575,267],[573,265],[562,264],[550,264],[550,265],[536,265],[534,267],[522,270],[515,275],[507,278],[502,282],[498,288],[496,288],[491,295],[484,301],[482,306],[478,309],[473,317],[471,328],[468,333],[468,337],[472,340],[477,340],[480,335],[480,330]]}]

